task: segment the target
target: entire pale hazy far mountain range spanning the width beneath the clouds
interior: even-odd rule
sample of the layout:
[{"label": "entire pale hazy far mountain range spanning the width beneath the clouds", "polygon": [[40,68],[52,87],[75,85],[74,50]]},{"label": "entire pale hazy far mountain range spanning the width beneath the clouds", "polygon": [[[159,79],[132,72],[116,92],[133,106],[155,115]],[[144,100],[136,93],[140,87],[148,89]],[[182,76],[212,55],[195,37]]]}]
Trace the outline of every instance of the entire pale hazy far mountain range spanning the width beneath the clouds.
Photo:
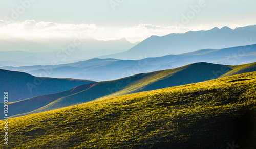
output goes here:
[{"label": "entire pale hazy far mountain range spanning the width beneath the clouds", "polygon": [[[54,46],[52,41],[44,41],[40,43],[40,49],[37,45],[38,42],[42,42],[40,40],[37,42],[21,42],[18,39],[6,39],[7,41],[0,41],[1,48],[3,48],[0,51],[0,66],[50,65],[52,61],[57,62],[57,64],[65,64],[92,58],[139,60],[179,55],[200,49],[223,49],[256,44],[255,32],[256,26],[236,29],[215,27],[207,31],[189,31],[183,34],[172,33],[162,37],[151,36],[140,43],[130,43],[125,38],[115,41],[98,41],[90,38],[81,42],[81,45],[77,46],[72,52],[67,51],[69,44],[65,43],[72,43],[68,39],[61,42],[56,41]],[[18,40],[20,44],[11,44],[12,40]],[[6,51],[6,49],[9,49],[9,51]],[[34,49],[40,52],[31,52]],[[37,61],[34,61],[35,59]]]}]

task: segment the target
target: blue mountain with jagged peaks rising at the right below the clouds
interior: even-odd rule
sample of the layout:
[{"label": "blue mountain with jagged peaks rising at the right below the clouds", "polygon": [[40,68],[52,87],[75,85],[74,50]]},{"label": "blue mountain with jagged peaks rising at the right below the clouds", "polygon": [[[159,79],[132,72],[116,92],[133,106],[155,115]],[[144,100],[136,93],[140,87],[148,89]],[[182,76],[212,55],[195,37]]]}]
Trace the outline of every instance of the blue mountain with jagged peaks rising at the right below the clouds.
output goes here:
[{"label": "blue mountain with jagged peaks rising at the right below the clouds", "polygon": [[145,55],[147,57],[160,57],[192,52],[198,49],[220,49],[255,44],[250,40],[255,34],[256,26],[247,26],[236,29],[215,27],[208,31],[189,31],[184,34],[172,33],[162,37],[151,36],[128,51],[98,58],[138,60],[140,56]]}]

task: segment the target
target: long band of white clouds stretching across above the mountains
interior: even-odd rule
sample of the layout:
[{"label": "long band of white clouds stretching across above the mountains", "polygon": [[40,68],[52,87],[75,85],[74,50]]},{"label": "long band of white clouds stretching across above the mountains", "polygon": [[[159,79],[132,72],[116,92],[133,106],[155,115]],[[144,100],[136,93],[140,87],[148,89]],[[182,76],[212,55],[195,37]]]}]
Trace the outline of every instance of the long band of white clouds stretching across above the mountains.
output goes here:
[{"label": "long band of white clouds stretching across above the mountains", "polygon": [[208,30],[212,27],[162,27],[152,24],[139,24],[138,26],[117,29],[115,31],[99,28],[96,24],[59,24],[55,22],[36,22],[35,20],[26,20],[22,23],[1,24],[0,20],[0,38],[65,38],[74,35],[83,34],[97,40],[117,40],[126,38],[135,43],[142,41],[151,35],[164,36],[170,33],[185,33],[193,30]]}]

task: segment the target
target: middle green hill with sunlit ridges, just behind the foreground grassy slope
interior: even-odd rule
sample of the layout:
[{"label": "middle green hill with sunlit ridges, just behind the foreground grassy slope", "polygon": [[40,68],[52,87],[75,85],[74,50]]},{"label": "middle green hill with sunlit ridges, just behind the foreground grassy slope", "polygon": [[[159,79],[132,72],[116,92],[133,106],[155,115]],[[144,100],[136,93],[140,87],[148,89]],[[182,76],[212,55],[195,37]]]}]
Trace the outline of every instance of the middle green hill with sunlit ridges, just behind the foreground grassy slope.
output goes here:
[{"label": "middle green hill with sunlit ridges, just behind the foreground grassy slope", "polygon": [[[39,104],[40,106],[37,106],[36,109],[34,107],[32,109],[26,105],[28,103],[30,103],[29,105],[36,105],[37,103],[32,101],[34,100],[33,98],[28,99],[26,102],[24,101],[12,103],[10,104],[10,107],[19,107],[13,114],[17,114],[15,116],[23,116],[32,113],[77,105],[99,98],[110,98],[141,91],[149,91],[154,89],[197,83],[205,80],[216,79],[227,73],[227,76],[231,76],[234,74],[251,71],[256,71],[256,63],[238,66],[195,63],[175,69],[142,73],[119,80],[99,82],[90,88],[84,88],[80,92],[73,94],[69,93],[68,95],[63,94],[61,96],[60,93],[57,95],[51,95],[54,97],[51,98],[50,102]],[[44,99],[44,97],[39,97],[39,100],[49,101],[48,98]],[[27,113],[25,113],[25,111]]]}]

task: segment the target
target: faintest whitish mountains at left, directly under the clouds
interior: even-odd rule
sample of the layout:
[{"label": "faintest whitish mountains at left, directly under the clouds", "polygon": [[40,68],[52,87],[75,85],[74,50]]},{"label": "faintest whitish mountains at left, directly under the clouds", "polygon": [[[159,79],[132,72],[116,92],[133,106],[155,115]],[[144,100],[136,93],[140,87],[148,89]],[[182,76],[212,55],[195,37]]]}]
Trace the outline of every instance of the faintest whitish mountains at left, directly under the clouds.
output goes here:
[{"label": "faintest whitish mountains at left, directly under the clouds", "polygon": [[77,43],[76,47],[82,51],[89,51],[92,49],[130,49],[137,43],[131,43],[125,38],[118,40],[96,40],[92,37],[86,37],[83,35],[76,35],[73,37],[63,37],[61,39],[49,39],[49,38],[33,38],[33,39],[23,39],[10,37],[0,40],[0,51],[27,51],[34,52],[51,52],[51,51],[61,51],[62,48],[68,48],[69,44]]}]

